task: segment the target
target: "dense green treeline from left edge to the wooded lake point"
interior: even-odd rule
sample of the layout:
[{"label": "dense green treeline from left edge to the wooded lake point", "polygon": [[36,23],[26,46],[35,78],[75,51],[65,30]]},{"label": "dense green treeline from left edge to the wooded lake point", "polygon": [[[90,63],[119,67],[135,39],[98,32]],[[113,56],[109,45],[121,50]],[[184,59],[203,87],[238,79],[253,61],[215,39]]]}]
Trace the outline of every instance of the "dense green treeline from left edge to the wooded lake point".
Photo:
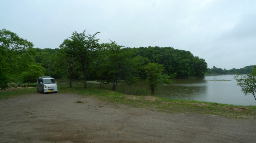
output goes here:
[{"label": "dense green treeline from left edge to the wooded lake point", "polygon": [[173,47],[124,48],[117,43],[98,43],[96,35],[72,32],[60,48],[33,48],[33,43],[6,29],[0,30],[0,88],[8,82],[35,82],[38,76],[98,80],[101,84],[128,84],[146,78],[145,64],[158,63],[170,77],[203,77],[205,60]]}]

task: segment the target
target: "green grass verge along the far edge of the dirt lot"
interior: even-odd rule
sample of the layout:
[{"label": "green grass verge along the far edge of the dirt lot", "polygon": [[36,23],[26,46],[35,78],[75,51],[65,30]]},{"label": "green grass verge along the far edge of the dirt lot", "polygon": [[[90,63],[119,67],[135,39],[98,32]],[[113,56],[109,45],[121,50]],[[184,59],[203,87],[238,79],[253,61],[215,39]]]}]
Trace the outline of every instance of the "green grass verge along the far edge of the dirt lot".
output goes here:
[{"label": "green grass verge along the far edge of the dirt lot", "polygon": [[[12,98],[34,92],[36,92],[36,88],[19,88],[13,91],[0,92],[0,99]],[[215,102],[174,100],[156,96],[135,96],[122,94],[110,89],[95,87],[84,89],[81,87],[69,88],[58,86],[58,93],[64,92],[78,94],[84,98],[91,97],[97,100],[109,101],[115,104],[125,104],[130,107],[145,108],[153,111],[168,113],[212,114],[241,119],[256,119],[256,106],[236,106]]]}]

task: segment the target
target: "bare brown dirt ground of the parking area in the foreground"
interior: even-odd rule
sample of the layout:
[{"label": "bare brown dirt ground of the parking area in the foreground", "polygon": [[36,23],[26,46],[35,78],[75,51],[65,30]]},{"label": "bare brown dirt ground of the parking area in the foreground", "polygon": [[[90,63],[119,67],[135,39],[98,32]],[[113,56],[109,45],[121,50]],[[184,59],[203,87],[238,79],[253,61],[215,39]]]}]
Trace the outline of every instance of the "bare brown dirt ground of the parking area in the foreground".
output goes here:
[{"label": "bare brown dirt ground of the parking area in the foreground", "polygon": [[255,141],[256,121],[249,119],[171,114],[62,93],[0,100],[0,143]]}]

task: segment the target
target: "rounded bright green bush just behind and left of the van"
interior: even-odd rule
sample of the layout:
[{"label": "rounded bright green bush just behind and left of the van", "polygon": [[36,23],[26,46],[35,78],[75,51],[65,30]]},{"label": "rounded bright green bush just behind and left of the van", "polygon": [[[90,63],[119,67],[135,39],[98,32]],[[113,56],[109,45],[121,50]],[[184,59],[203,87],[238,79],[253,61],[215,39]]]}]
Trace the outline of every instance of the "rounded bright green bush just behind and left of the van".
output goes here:
[{"label": "rounded bright green bush just behind and left of the van", "polygon": [[34,83],[40,76],[44,76],[43,67],[31,65],[26,72],[20,74],[20,79],[22,82]]}]

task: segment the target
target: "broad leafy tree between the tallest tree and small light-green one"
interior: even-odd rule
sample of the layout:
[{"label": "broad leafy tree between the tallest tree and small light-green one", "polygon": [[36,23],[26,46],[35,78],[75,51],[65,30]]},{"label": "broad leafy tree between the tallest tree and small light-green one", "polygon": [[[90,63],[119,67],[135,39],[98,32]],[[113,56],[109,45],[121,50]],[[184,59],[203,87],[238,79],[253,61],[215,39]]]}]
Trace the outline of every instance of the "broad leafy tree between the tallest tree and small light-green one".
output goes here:
[{"label": "broad leafy tree between the tallest tree and small light-green one", "polygon": [[132,52],[122,51],[120,45],[115,42],[109,43],[108,54],[102,67],[106,67],[104,80],[107,83],[113,83],[112,90],[116,90],[116,86],[120,81],[125,81],[128,85],[139,81],[139,65],[136,58],[132,58]]}]

